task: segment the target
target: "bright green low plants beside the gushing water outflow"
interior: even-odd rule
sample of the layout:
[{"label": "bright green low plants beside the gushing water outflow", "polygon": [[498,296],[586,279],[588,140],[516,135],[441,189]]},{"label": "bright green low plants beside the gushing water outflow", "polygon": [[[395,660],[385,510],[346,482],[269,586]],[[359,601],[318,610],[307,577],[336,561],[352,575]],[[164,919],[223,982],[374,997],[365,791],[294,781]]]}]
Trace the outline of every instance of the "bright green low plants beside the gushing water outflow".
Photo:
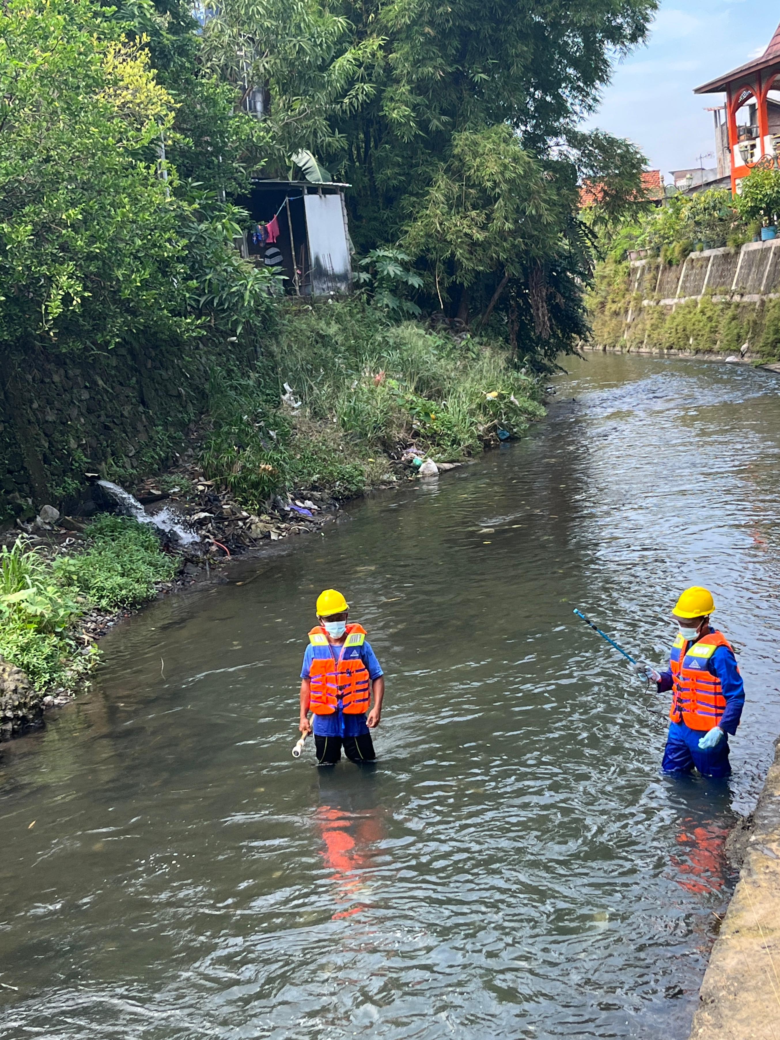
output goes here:
[{"label": "bright green low plants beside the gushing water outflow", "polygon": [[92,645],[78,645],[79,619],[139,606],[178,569],[152,530],[123,517],[93,521],[75,554],[49,558],[19,538],[0,550],[0,656],[37,691],[71,686],[97,659]]}]

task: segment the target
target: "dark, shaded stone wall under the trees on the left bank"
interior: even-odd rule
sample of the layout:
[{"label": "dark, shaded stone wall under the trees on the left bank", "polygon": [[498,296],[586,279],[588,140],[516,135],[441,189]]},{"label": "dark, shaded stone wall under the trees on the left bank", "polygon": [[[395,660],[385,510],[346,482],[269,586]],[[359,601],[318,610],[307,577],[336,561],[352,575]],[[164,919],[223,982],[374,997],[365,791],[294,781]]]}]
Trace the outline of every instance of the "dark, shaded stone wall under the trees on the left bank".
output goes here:
[{"label": "dark, shaded stone wall under the trees on the left bank", "polygon": [[205,407],[213,357],[257,362],[238,343],[0,347],[0,521],[67,502],[87,470],[131,480],[164,464]]}]

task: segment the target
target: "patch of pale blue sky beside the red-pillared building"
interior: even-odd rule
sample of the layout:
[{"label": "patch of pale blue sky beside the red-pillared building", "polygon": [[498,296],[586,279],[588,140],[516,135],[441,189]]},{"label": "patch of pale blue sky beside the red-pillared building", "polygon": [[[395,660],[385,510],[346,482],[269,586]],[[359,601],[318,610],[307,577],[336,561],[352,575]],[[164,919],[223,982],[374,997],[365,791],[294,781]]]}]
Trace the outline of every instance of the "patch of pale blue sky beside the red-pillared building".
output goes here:
[{"label": "patch of pale blue sky beside the red-pillared building", "polygon": [[780,3],[768,0],[661,0],[647,43],[618,62],[586,125],[628,137],[670,183],[670,171],[698,166],[701,154],[714,152],[712,113],[704,108],[725,95],[694,87],[762,54],[778,23]]}]

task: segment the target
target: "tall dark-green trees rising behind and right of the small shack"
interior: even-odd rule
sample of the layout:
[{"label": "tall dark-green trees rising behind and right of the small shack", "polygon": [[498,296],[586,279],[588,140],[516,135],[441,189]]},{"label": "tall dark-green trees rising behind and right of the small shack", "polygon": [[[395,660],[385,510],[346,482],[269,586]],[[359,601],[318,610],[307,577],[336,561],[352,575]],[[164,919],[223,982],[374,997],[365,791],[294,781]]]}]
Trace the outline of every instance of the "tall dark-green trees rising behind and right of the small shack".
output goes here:
[{"label": "tall dark-green trees rising behind and right of the small shack", "polygon": [[203,54],[240,104],[259,98],[266,171],[286,175],[301,148],[321,154],[352,184],[358,249],[400,244],[416,261],[418,306],[492,319],[544,364],[586,332],[592,240],[577,180],[599,180],[610,219],[636,197],[643,162],[576,123],[654,7],[226,0],[207,7]]}]

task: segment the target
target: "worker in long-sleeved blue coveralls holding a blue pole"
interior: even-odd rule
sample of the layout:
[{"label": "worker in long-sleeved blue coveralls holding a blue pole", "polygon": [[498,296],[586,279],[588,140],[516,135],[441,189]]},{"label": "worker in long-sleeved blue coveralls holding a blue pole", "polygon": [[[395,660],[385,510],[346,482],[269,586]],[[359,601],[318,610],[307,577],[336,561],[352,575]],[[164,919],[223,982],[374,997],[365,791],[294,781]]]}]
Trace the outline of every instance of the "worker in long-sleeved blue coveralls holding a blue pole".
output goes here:
[{"label": "worker in long-sleeved blue coveralls holding a blue pole", "polygon": [[713,610],[707,589],[686,589],[672,614],[679,632],[669,668],[648,673],[659,693],[672,691],[665,773],[691,773],[694,766],[706,777],[731,773],[728,734],[739,725],[745,687],[731,645],[709,624]]}]

